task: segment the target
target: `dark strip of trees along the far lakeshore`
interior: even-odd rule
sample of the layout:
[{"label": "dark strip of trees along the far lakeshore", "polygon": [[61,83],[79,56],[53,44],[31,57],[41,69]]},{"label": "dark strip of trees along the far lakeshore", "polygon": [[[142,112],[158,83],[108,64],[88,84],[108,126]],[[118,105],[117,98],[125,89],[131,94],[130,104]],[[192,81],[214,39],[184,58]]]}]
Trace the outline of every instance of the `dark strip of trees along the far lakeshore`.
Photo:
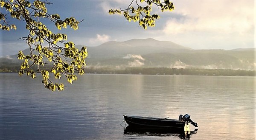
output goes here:
[{"label": "dark strip of trees along the far lakeshore", "polygon": [[[0,72],[17,73],[20,67],[1,67]],[[50,70],[50,67],[48,68]],[[143,74],[143,75],[184,75],[184,76],[256,76],[255,70],[231,70],[231,69],[192,69],[192,68],[168,68],[168,67],[127,67],[117,70],[108,67],[86,67],[85,73],[98,74]]]}]

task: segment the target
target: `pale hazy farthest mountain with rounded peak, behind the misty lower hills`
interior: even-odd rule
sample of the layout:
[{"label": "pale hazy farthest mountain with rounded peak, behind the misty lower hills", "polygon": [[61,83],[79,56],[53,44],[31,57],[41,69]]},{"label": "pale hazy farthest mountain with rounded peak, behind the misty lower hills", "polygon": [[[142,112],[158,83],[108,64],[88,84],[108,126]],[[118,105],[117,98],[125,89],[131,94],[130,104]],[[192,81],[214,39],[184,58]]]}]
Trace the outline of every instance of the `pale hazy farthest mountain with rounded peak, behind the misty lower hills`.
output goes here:
[{"label": "pale hazy farthest mountain with rounded peak, behind the misty lower hills", "polygon": [[123,57],[127,54],[144,55],[149,53],[184,52],[193,49],[186,48],[170,41],[155,39],[131,39],[124,42],[110,41],[97,47],[87,47],[89,58]]}]

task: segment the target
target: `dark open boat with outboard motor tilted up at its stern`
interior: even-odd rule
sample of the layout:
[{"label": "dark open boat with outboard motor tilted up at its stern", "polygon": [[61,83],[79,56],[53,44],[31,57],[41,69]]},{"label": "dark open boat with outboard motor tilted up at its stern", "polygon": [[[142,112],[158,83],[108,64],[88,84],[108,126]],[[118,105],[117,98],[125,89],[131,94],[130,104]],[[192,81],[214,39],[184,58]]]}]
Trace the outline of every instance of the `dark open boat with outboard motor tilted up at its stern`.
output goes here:
[{"label": "dark open boat with outboard motor tilted up at its stern", "polygon": [[177,128],[186,129],[190,126],[190,123],[198,127],[197,123],[190,119],[190,115],[180,115],[179,119],[169,118],[153,118],[153,117],[142,117],[142,116],[128,116],[124,115],[125,122],[129,126],[136,127],[157,127],[157,128]]}]

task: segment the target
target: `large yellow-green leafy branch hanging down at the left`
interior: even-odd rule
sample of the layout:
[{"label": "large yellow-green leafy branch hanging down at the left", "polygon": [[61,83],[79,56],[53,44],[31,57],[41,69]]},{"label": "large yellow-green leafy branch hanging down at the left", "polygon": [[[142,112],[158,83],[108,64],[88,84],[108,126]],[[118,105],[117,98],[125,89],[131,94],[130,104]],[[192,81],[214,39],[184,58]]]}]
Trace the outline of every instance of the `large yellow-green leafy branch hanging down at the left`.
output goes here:
[{"label": "large yellow-green leafy branch hanging down at the left", "polygon": [[[67,28],[67,25],[73,30],[78,29],[79,21],[74,17],[61,20],[60,15],[49,14],[46,8],[47,4],[51,3],[41,0],[33,0],[32,2],[28,0],[1,0],[0,6],[6,10],[6,13],[0,12],[0,21],[3,21],[0,28],[6,31],[17,29],[15,25],[6,21],[8,14],[12,18],[26,22],[26,29],[29,33],[20,39],[27,42],[30,54],[24,55],[22,51],[19,51],[17,58],[23,60],[19,75],[26,74],[31,78],[36,78],[36,74],[41,73],[42,83],[47,89],[61,91],[64,90],[64,84],[55,83],[52,80],[66,77],[67,81],[72,84],[73,81],[77,80],[75,73],[83,75],[87,49],[83,47],[79,50],[73,42],[65,42],[67,41],[66,34],[54,34],[41,22],[41,19],[48,19],[49,22],[54,22],[59,30]],[[44,68],[45,64],[52,64],[52,69]],[[36,72],[32,70],[32,66],[37,67]]]}]

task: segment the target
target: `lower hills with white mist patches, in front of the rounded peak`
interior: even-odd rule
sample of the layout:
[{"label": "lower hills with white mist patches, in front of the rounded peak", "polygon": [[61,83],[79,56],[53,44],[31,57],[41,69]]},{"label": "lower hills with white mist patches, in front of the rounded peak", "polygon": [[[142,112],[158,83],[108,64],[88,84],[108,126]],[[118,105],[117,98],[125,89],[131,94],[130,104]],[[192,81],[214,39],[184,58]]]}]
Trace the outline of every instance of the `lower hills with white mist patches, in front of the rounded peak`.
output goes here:
[{"label": "lower hills with white mist patches, in front of the rounded peak", "polygon": [[88,67],[176,67],[201,69],[256,70],[254,52],[237,54],[230,50],[204,51],[189,53],[150,53],[113,57],[109,59],[87,59]]}]

